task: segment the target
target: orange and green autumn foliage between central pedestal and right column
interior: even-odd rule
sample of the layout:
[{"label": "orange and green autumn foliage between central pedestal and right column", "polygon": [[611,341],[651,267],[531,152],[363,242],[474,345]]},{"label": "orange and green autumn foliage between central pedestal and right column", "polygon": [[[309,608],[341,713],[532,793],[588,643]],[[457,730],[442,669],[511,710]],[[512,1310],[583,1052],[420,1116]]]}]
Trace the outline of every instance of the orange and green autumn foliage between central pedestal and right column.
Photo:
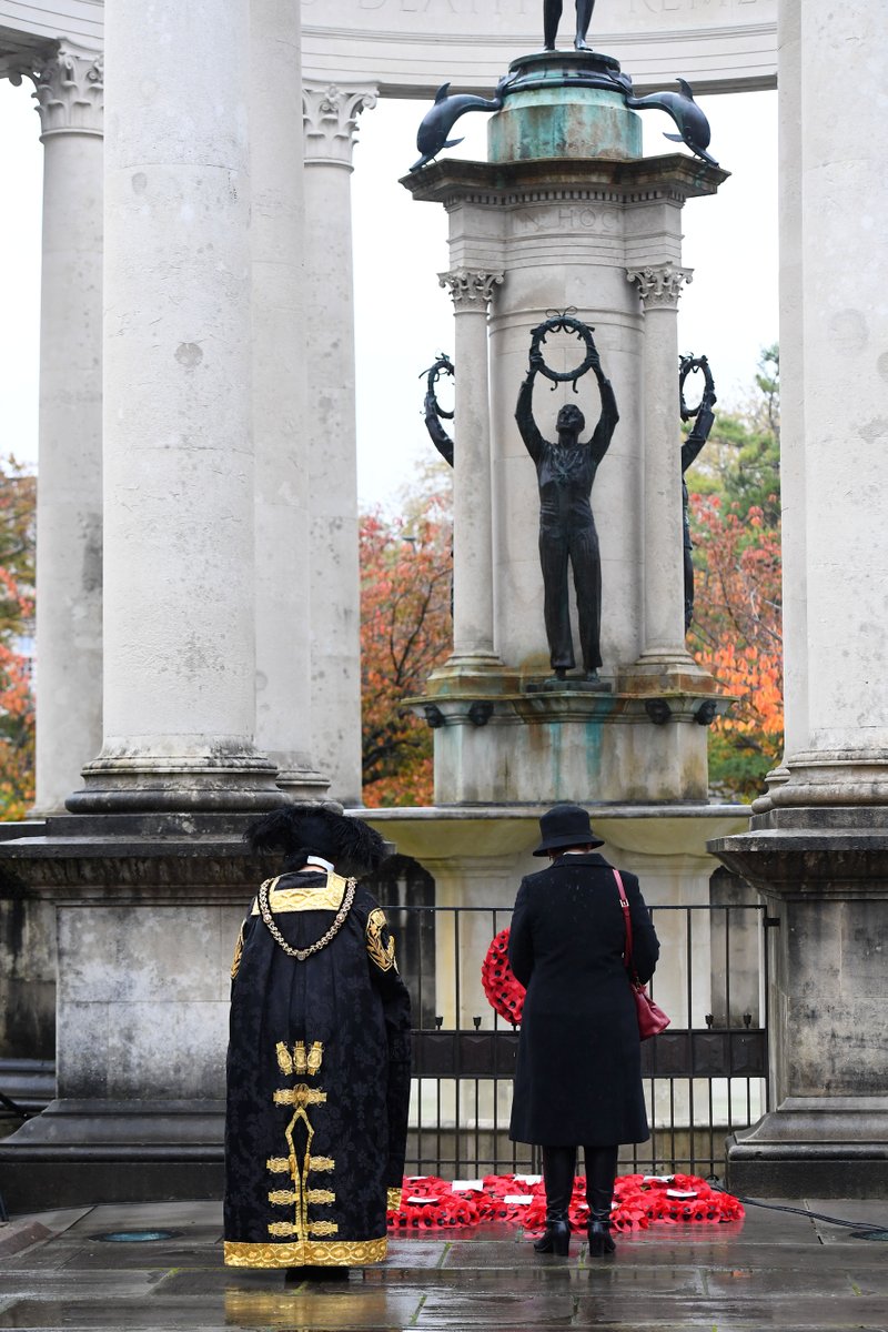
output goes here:
[{"label": "orange and green autumn foliage between central pedestal and right column", "polygon": [[710,789],[735,799],[760,794],[783,751],[779,453],[779,353],[767,348],[755,397],[716,417],[687,476],[696,566],[688,646],[738,698],[710,730]]}]

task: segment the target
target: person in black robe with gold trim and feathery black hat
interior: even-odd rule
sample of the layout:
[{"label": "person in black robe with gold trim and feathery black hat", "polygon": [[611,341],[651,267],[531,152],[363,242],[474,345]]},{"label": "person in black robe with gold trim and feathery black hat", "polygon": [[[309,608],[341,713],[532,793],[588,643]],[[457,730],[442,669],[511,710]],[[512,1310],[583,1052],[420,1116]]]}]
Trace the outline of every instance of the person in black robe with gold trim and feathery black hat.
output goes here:
[{"label": "person in black robe with gold trim and feathery black hat", "polygon": [[246,840],[285,872],[232,966],[225,1263],[343,1275],[385,1259],[403,1179],[410,999],[385,914],[349,878],[385,842],[324,806],[274,810]]}]

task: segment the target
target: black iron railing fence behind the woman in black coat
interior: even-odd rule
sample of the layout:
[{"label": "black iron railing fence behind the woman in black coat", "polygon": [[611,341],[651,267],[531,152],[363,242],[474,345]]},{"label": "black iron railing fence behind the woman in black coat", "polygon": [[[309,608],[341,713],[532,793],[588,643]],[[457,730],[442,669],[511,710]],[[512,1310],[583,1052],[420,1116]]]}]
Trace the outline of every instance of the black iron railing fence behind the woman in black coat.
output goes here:
[{"label": "black iron railing fence behind the woman in black coat", "polygon": [[[652,1135],[622,1150],[623,1171],[719,1175],[726,1136],[767,1108],[770,922],[762,906],[736,900],[736,880],[720,890],[716,880],[706,906],[651,908],[662,944],[651,992],[672,1024],[642,1047]],[[417,887],[411,904],[394,894],[386,904],[415,1022],[407,1172],[538,1173],[538,1151],[509,1140],[518,1034],[481,986],[511,911],[415,904]]]}]

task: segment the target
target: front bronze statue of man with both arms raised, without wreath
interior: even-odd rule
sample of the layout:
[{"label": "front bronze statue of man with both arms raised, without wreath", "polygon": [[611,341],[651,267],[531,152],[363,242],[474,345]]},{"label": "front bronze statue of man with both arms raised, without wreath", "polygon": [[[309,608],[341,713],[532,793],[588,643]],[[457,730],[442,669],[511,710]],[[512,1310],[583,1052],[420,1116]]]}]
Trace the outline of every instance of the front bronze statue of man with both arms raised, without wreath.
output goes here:
[{"label": "front bronze statue of man with both arms raised, without wreath", "polygon": [[[555,679],[564,679],[575,665],[574,639],[567,599],[567,566],[574,570],[579,643],[587,686],[599,685],[602,665],[602,558],[598,533],[588,497],[598,465],[607,453],[619,421],[616,398],[610,380],[602,372],[598,352],[591,354],[591,369],[598,380],[602,413],[591,440],[580,442],[586,418],[574,402],[558,413],[558,442],[543,440],[534,421],[534,380],[543,366],[543,356],[534,345],[530,369],[518,394],[515,420],[525,446],[537,464],[539,485],[539,562],[543,570],[543,614],[549,655]],[[599,686],[600,687],[600,686]]]}]

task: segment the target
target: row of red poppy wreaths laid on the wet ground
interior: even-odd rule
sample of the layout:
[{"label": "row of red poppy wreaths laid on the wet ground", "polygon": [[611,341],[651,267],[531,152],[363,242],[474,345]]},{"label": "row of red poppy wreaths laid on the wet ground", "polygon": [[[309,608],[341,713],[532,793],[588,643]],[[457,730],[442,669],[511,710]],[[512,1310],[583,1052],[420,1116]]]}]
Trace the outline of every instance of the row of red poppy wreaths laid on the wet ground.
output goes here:
[{"label": "row of red poppy wreaths laid on the wet ground", "polygon": [[[481,1188],[477,1185],[481,1184]],[[639,1231],[650,1225],[686,1221],[743,1220],[743,1205],[731,1193],[711,1188],[696,1175],[620,1175],[614,1185],[611,1225],[615,1231]],[[398,1211],[389,1212],[393,1228],[467,1228],[501,1221],[539,1231],[546,1224],[546,1189],[542,1180],[522,1175],[487,1175],[473,1187],[454,1189],[437,1175],[407,1177]],[[583,1231],[588,1223],[586,1179],[574,1181],[570,1223]]]}]

